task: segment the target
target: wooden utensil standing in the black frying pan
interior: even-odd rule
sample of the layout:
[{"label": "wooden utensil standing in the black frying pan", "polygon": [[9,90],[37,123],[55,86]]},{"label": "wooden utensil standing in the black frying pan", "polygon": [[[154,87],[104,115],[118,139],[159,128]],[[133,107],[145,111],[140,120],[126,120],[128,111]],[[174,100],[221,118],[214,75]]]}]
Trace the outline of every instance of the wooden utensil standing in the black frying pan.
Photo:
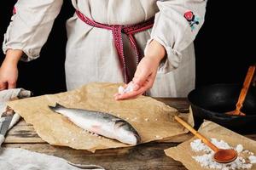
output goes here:
[{"label": "wooden utensil standing in the black frying pan", "polygon": [[226,112],[227,115],[236,115],[236,116],[237,115],[240,115],[240,116],[245,116],[246,115],[246,114],[242,113],[240,110],[241,110],[241,107],[243,105],[244,99],[247,96],[247,91],[248,91],[248,88],[250,87],[250,84],[252,82],[254,71],[255,71],[255,65],[250,66],[248,71],[247,71],[247,77],[245,78],[245,80],[243,82],[243,85],[242,85],[242,88],[241,88],[241,93],[239,95],[238,101],[236,103],[236,110]]}]

